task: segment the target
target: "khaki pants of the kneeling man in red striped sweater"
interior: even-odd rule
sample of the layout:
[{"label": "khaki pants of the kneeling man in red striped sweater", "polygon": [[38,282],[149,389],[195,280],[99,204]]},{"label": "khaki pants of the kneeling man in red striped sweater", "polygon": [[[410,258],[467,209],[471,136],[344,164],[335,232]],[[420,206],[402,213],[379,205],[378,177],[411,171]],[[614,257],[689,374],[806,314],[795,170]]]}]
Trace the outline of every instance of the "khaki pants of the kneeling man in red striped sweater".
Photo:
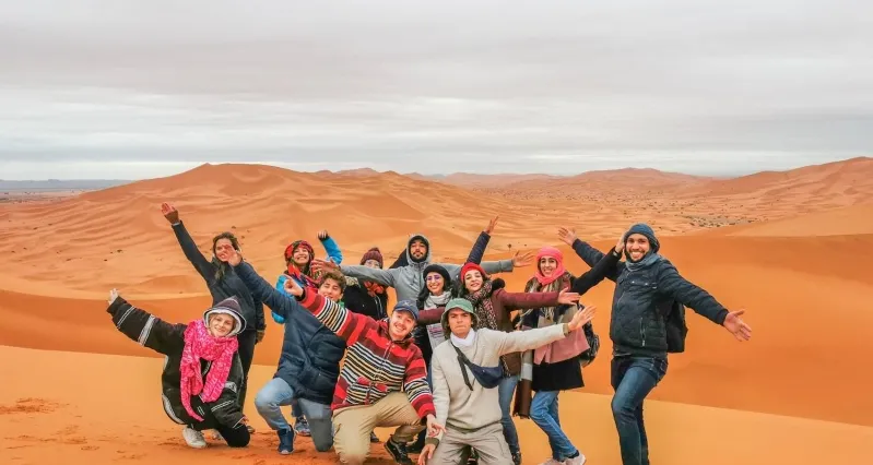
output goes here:
[{"label": "khaki pants of the kneeling man in red striped sweater", "polygon": [[391,438],[405,443],[426,427],[412,408],[406,394],[393,392],[373,405],[346,407],[333,414],[333,449],[340,463],[361,465],[369,455],[373,428],[399,427]]}]

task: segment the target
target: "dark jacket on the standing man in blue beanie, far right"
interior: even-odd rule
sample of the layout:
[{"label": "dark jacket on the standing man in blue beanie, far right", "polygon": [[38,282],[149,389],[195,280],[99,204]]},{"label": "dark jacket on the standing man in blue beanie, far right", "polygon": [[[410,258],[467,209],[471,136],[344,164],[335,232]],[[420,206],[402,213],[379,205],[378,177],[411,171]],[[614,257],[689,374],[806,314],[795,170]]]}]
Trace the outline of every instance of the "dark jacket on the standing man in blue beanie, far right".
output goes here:
[{"label": "dark jacket on the standing man in blue beanie, far right", "polygon": [[[602,252],[579,239],[573,249],[589,266],[603,258]],[[682,277],[664,258],[636,271],[620,262],[606,277],[615,282],[610,319],[614,354],[666,357],[666,329],[657,309],[659,302],[676,300],[717,324],[728,315],[721,303]]]}]

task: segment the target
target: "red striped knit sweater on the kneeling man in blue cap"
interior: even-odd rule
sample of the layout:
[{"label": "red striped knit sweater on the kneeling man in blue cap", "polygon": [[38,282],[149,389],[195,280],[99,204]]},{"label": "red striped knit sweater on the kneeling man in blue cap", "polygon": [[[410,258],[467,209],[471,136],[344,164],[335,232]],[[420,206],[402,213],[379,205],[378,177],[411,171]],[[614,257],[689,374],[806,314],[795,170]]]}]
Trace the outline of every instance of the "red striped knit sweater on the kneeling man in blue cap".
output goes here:
[{"label": "red striped knit sweater on the kneeling man in blue cap", "polygon": [[304,290],[300,303],[349,345],[333,390],[333,412],[403,391],[420,418],[436,414],[422,351],[411,335],[391,341],[387,320],[353,313],[312,289]]}]

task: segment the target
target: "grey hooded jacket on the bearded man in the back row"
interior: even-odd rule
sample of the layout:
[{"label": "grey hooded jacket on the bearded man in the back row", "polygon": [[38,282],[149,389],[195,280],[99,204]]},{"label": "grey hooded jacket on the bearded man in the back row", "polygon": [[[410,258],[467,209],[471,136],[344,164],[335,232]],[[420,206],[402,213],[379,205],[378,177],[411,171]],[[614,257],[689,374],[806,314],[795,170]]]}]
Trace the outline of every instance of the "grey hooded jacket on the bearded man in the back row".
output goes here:
[{"label": "grey hooded jacket on the bearded man in the back row", "polygon": [[[415,239],[421,239],[427,246],[427,253],[425,254],[424,259],[420,262],[415,262],[410,253],[410,247]],[[422,273],[427,265],[432,264],[430,258],[432,254],[432,247],[430,242],[427,240],[427,237],[424,235],[414,235],[410,237],[410,240],[406,242],[406,250],[405,250],[405,259],[408,264],[404,266],[396,267],[396,269],[388,269],[388,270],[379,270],[379,269],[370,269],[364,265],[341,265],[340,271],[344,274],[357,277],[361,279],[369,279],[375,281],[384,286],[391,286],[397,291],[397,299],[400,300],[417,300],[418,293],[422,290],[422,287],[425,286],[424,277]],[[455,281],[458,278],[458,274],[461,272],[461,265],[456,265],[451,263],[437,263],[438,265],[446,269],[451,275],[451,279]],[[482,262],[482,269],[485,270],[487,273],[508,273],[512,271],[512,261],[511,260],[498,260],[493,262]]]}]

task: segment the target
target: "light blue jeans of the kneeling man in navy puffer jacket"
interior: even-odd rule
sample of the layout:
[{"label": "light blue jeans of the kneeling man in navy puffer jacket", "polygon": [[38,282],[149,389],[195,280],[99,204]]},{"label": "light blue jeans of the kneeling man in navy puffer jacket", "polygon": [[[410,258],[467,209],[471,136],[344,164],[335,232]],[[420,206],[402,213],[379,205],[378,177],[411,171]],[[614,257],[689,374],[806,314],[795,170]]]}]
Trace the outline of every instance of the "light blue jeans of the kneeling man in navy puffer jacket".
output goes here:
[{"label": "light blue jeans of the kneeling man in navy puffer jacket", "polygon": [[329,451],[333,445],[333,422],[331,419],[330,405],[319,404],[305,398],[295,398],[294,390],[282,378],[273,378],[255,396],[255,406],[258,414],[263,417],[270,428],[279,430],[290,430],[285,416],[282,415],[280,407],[291,405],[296,401],[303,415],[309,422],[309,430],[312,433],[318,452]]}]

